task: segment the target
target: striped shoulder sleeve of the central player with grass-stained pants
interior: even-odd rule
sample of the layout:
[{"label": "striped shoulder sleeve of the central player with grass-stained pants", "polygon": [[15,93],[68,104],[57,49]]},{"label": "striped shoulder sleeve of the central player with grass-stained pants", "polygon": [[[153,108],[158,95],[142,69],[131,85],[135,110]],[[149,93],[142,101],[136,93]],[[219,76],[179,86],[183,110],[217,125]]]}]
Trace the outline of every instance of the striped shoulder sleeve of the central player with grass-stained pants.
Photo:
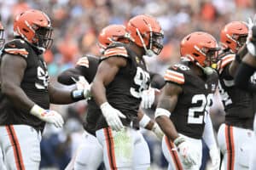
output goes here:
[{"label": "striped shoulder sleeve of the central player with grass-stained pants", "polygon": [[125,44],[121,42],[113,42],[111,45],[106,48],[104,51],[104,54],[102,56],[102,59],[106,59],[108,57],[125,57],[128,58],[128,51],[125,48]]}]

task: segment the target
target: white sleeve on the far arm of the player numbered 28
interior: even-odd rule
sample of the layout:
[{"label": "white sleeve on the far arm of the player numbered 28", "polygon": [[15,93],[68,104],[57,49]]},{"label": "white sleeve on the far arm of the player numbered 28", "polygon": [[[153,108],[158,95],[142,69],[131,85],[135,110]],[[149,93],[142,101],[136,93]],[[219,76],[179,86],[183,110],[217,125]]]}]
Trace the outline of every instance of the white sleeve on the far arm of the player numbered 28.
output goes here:
[{"label": "white sleeve on the far arm of the player numbered 28", "polygon": [[212,148],[212,146],[217,146],[215,136],[213,133],[213,127],[212,127],[212,119],[210,117],[210,114],[207,113],[207,116],[205,117],[205,129],[203,132],[202,138],[205,140],[208,148]]}]

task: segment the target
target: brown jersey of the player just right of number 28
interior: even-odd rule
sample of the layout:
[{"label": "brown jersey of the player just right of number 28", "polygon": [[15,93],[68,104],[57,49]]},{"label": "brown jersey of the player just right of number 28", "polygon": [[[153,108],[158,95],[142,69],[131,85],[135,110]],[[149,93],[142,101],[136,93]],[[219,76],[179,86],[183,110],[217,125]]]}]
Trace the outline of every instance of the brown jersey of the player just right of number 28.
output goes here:
[{"label": "brown jersey of the player just right of number 28", "polygon": [[253,129],[255,94],[236,88],[234,78],[230,76],[229,71],[230,64],[234,59],[235,54],[224,53],[221,54],[221,60],[218,62],[218,89],[224,105],[225,123]]}]

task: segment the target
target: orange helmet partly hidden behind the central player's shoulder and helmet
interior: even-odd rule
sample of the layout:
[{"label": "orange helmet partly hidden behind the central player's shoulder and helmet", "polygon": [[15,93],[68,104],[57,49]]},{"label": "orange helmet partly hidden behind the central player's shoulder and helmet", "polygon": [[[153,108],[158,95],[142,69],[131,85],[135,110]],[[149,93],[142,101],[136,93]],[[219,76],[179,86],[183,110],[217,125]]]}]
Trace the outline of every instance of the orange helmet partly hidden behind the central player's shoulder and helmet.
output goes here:
[{"label": "orange helmet partly hidden behind the central player's shoulder and helmet", "polygon": [[123,25],[110,25],[102,29],[98,36],[98,45],[101,48],[101,53],[112,42],[128,42],[127,32]]}]

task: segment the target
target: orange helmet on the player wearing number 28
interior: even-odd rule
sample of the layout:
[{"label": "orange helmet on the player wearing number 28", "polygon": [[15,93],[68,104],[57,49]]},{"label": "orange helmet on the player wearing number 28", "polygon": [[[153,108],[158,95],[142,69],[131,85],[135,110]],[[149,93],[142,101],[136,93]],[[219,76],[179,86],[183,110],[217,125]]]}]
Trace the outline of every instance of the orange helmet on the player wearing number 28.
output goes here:
[{"label": "orange helmet on the player wearing number 28", "polygon": [[180,54],[202,67],[216,67],[219,49],[216,39],[203,31],[190,33],[180,43]]}]

